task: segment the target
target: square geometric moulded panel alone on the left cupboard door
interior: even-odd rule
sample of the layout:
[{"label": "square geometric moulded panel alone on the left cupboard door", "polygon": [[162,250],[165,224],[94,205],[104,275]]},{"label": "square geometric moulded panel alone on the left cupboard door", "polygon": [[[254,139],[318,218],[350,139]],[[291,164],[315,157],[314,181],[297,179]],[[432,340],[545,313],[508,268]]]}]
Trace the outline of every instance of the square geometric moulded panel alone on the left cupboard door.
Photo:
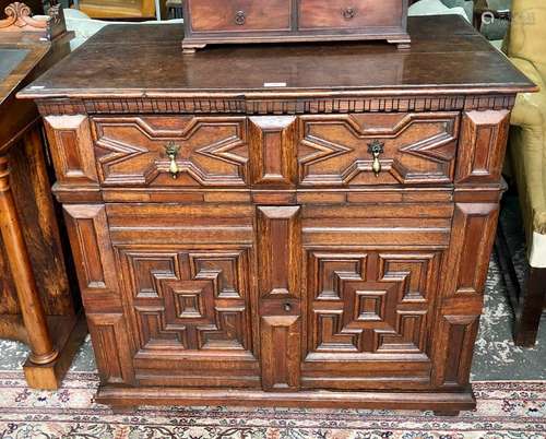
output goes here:
[{"label": "square geometric moulded panel alone on the left cupboard door", "polygon": [[116,250],[141,351],[251,351],[247,250]]}]

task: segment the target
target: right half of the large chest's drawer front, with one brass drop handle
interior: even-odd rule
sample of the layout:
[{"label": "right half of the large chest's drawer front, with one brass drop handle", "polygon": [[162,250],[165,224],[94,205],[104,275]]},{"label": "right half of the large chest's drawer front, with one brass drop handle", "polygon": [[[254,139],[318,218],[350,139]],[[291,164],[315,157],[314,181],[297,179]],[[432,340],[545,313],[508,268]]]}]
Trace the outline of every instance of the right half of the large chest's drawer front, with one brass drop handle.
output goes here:
[{"label": "right half of the large chest's drawer front, with one brass drop handle", "polygon": [[302,116],[304,187],[451,183],[458,112]]}]

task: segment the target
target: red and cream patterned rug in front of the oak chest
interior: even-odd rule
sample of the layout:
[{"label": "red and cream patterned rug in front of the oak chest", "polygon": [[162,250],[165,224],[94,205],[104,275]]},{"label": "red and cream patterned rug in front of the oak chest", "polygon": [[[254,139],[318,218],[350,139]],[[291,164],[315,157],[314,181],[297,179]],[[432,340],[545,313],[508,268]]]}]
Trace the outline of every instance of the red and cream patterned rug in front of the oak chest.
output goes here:
[{"label": "red and cream patterned rug in front of the oak chest", "polygon": [[0,438],[97,439],[544,439],[546,382],[475,382],[475,412],[459,417],[365,410],[141,407],[115,415],[93,402],[95,373],[71,372],[58,392],[0,372]]}]

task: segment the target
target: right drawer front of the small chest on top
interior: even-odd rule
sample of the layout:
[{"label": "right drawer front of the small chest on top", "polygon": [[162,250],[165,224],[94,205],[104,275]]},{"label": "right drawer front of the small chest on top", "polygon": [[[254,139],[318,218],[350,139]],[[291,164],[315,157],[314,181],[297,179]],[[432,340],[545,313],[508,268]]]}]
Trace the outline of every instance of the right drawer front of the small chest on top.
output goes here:
[{"label": "right drawer front of the small chest on top", "polygon": [[401,27],[401,0],[300,0],[298,28]]}]

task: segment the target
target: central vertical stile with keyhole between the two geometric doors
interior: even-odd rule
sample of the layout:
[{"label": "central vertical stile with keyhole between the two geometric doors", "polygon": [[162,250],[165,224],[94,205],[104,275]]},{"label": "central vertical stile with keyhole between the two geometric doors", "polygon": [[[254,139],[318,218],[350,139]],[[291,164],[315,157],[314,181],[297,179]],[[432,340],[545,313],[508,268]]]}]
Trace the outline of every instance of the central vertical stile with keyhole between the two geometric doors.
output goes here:
[{"label": "central vertical stile with keyhole between the two geometric doors", "polygon": [[300,206],[258,206],[262,388],[299,389],[301,359]]}]

